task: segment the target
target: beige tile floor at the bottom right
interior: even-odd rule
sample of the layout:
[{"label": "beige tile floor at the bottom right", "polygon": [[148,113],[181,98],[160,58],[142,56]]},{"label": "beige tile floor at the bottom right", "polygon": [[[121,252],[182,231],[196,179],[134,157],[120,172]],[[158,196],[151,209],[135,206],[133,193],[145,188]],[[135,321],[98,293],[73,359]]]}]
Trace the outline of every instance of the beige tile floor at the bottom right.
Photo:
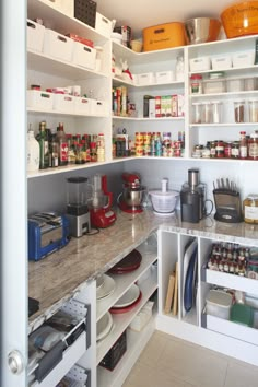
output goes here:
[{"label": "beige tile floor at the bottom right", "polygon": [[258,367],[155,331],[122,387],[258,387]]}]

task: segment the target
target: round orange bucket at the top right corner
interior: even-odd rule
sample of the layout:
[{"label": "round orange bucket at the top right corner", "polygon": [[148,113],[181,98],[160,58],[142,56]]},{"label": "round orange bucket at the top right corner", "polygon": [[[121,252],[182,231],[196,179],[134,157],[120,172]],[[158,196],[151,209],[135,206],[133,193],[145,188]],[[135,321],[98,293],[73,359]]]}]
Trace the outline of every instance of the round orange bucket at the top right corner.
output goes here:
[{"label": "round orange bucket at the top right corner", "polygon": [[258,34],[258,1],[244,1],[221,13],[227,38]]}]

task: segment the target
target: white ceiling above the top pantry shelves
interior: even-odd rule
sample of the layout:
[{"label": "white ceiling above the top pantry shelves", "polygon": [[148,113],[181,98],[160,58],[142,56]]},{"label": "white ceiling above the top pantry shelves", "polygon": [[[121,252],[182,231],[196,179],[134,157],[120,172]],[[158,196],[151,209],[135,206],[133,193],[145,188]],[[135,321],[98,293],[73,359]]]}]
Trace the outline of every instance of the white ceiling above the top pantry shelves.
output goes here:
[{"label": "white ceiling above the top pantry shelves", "polygon": [[116,25],[128,25],[133,37],[156,24],[184,22],[187,19],[209,16],[220,19],[221,12],[235,3],[233,0],[96,0],[97,11],[117,21]]}]

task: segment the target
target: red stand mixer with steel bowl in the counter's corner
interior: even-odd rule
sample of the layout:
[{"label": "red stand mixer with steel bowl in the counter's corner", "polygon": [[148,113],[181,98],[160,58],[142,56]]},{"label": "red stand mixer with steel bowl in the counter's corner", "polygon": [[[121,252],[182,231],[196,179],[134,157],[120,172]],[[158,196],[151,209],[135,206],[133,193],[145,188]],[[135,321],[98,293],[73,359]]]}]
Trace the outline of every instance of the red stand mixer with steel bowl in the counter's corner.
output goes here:
[{"label": "red stand mixer with steel bowl in the counter's corner", "polygon": [[124,173],[124,191],[118,196],[119,208],[128,213],[140,213],[143,211],[142,202],[146,188],[141,185],[139,174]]}]

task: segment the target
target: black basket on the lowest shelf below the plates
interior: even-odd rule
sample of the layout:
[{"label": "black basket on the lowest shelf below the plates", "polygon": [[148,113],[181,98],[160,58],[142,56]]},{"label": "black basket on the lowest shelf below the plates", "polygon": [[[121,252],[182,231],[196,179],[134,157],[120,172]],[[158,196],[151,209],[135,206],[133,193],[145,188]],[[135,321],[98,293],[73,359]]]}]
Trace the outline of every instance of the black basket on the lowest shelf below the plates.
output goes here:
[{"label": "black basket on the lowest shelf below the plates", "polygon": [[112,349],[103,357],[99,365],[113,371],[127,350],[127,331],[125,330]]}]

